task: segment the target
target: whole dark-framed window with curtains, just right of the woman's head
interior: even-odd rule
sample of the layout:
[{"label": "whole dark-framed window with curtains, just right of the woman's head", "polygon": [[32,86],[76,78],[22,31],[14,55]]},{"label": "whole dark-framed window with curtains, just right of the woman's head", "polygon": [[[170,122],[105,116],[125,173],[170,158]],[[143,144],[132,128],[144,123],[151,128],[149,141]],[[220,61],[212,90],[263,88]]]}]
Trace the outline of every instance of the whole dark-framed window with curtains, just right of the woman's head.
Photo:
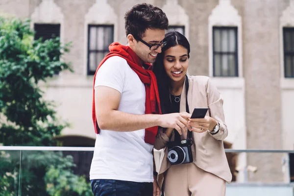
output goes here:
[{"label": "whole dark-framed window with curtains, just right of the woman's head", "polygon": [[213,76],[238,77],[237,27],[213,27]]}]

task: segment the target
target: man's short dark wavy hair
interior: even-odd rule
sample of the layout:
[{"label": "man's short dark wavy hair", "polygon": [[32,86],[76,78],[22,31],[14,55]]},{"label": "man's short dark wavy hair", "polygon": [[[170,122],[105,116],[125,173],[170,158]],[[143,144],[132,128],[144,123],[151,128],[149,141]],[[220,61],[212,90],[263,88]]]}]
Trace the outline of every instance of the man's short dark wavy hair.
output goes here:
[{"label": "man's short dark wavy hair", "polygon": [[158,7],[141,3],[134,5],[124,15],[126,36],[132,34],[135,39],[144,37],[147,28],[168,29],[169,20]]}]

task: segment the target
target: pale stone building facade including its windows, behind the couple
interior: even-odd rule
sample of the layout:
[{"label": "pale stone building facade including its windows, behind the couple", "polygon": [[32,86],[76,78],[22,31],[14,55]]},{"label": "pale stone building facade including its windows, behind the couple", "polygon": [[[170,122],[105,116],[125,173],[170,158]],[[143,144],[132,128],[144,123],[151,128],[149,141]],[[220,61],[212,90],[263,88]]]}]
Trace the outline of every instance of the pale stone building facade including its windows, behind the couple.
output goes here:
[{"label": "pale stone building facade including its windows, behind the couple", "polygon": [[[126,43],[124,13],[141,2],[162,8],[170,28],[188,38],[188,73],[210,76],[221,92],[226,147],[294,149],[294,0],[0,0],[0,14],[30,18],[36,36],[72,42],[63,60],[74,73],[43,86],[71,123],[59,138],[64,145],[94,145],[93,74],[110,43]],[[257,169],[236,173],[236,181],[294,181],[293,155],[228,157],[232,172]]]}]

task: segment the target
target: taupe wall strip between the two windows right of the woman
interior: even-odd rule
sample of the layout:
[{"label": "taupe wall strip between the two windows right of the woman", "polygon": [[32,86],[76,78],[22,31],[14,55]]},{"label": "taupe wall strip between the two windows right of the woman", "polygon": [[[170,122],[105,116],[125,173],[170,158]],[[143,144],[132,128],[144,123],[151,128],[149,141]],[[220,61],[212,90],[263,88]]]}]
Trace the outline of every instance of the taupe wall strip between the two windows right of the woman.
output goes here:
[{"label": "taupe wall strip between the two windows right of the woman", "polygon": [[[282,148],[281,90],[278,18],[276,2],[251,0],[244,4],[244,75],[247,147]],[[267,10],[267,11],[261,11]],[[258,20],[257,20],[258,19]],[[266,33],[270,32],[270,33]],[[266,49],[266,51],[265,51]],[[247,163],[258,167],[249,175],[265,181],[281,181],[281,154],[248,154]]]}]

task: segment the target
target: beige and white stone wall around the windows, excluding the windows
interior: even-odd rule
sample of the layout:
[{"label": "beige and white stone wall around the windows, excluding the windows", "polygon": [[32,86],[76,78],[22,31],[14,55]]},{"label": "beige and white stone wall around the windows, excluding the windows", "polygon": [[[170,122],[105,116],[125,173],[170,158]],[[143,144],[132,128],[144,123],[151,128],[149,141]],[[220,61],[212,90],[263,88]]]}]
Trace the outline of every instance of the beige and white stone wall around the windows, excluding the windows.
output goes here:
[{"label": "beige and white stone wall around the windows, excluding the windows", "polygon": [[[37,12],[45,2],[50,9]],[[72,63],[74,73],[61,73],[43,85],[46,98],[55,100],[59,115],[72,124],[64,135],[95,139],[91,119],[93,76],[86,75],[87,24],[115,24],[114,41],[124,44],[124,13],[139,2],[163,8],[171,25],[185,25],[191,44],[189,73],[194,75],[211,76],[211,25],[220,22],[238,26],[240,76],[212,79],[224,98],[229,127],[226,142],[238,149],[294,149],[294,79],[285,80],[282,75],[280,33],[281,24],[294,26],[294,0],[0,0],[0,13],[22,18],[35,13],[39,22],[61,23],[62,41],[73,43],[64,60]],[[219,22],[218,17],[212,17],[216,9],[224,13]],[[286,9],[286,22],[282,23]],[[233,17],[225,18],[226,14]],[[282,173],[281,159],[281,154],[240,155],[237,165],[258,168],[249,173],[250,180],[282,181],[287,177]],[[243,181],[244,176],[240,174],[238,180]]]}]

